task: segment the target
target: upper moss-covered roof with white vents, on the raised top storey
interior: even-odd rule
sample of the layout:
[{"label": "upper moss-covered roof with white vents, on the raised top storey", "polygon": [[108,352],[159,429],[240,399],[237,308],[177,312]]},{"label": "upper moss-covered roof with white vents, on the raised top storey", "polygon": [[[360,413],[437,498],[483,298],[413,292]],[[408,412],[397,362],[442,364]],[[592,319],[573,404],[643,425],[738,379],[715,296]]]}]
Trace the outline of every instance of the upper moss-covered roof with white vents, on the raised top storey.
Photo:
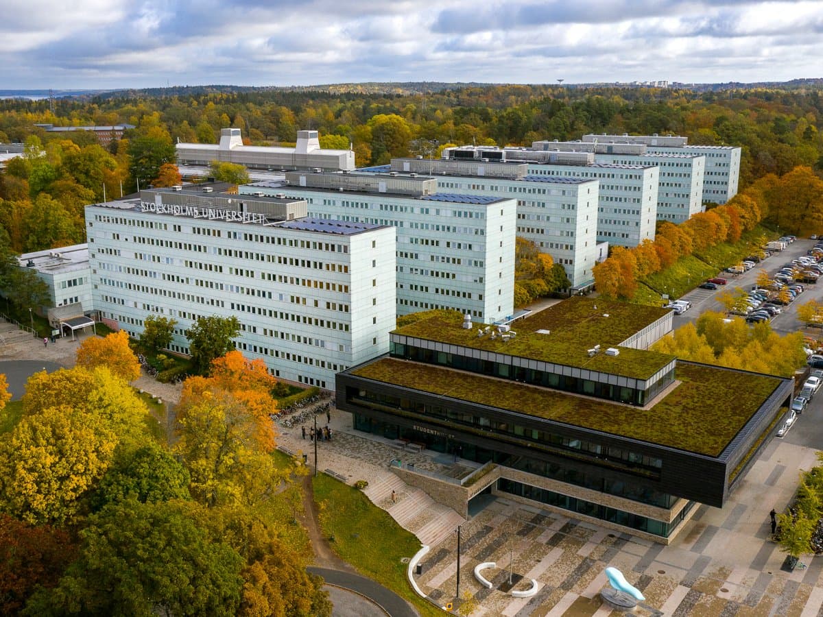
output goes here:
[{"label": "upper moss-covered roof with white vents, on the raised top storey", "polygon": [[[500,336],[477,336],[478,324],[464,330],[463,316],[456,311],[421,313],[420,318],[394,332],[516,355],[532,360],[565,364],[630,378],[647,379],[675,359],[673,355],[619,347],[620,355],[609,356],[607,347],[617,347],[635,332],[671,312],[668,308],[574,296],[532,316],[511,324],[517,336],[504,341]],[[549,334],[538,331],[550,332]],[[589,357],[588,350],[600,346]]]}]

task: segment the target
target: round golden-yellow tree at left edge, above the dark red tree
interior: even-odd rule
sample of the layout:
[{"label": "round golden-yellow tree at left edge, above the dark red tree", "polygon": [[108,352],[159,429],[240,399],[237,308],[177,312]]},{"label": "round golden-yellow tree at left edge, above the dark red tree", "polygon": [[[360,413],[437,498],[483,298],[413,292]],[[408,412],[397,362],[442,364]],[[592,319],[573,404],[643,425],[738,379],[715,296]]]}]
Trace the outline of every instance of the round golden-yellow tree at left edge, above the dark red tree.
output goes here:
[{"label": "round golden-yellow tree at left edge, above the dark red tree", "polygon": [[117,443],[99,416],[70,406],[24,416],[0,445],[0,508],[33,525],[67,522]]}]

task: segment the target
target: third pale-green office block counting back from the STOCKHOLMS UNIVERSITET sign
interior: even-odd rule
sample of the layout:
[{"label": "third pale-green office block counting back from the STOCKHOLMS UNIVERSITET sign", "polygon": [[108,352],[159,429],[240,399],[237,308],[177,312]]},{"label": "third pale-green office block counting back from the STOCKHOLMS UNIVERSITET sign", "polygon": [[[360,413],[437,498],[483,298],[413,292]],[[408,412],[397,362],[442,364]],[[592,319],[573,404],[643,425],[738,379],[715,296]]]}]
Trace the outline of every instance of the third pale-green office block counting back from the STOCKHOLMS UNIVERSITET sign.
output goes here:
[{"label": "third pale-green office block counting back from the STOCKHOLMS UNIVERSITET sign", "polygon": [[[598,183],[595,179],[528,175],[525,163],[468,158],[393,159],[390,173],[428,173],[444,193],[517,200],[517,235],[563,266],[573,286],[592,280],[596,259]],[[484,154],[485,150],[482,151]],[[386,169],[388,171],[388,169]]]}]

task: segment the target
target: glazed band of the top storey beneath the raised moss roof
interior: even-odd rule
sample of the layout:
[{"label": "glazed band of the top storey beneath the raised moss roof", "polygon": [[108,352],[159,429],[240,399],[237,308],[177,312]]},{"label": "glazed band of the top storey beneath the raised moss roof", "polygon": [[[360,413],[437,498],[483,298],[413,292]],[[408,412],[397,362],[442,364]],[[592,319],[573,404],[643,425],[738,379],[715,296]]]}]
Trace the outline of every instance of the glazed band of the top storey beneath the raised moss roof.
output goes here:
[{"label": "glazed band of the top storey beneath the raised moss roof", "polygon": [[453,369],[469,371],[481,375],[490,375],[502,379],[511,379],[520,383],[529,383],[534,386],[551,387],[564,392],[575,392],[588,397],[618,401],[631,405],[643,406],[658,392],[662,392],[669,383],[674,381],[674,369],[663,375],[647,390],[635,387],[622,387],[613,383],[603,383],[594,379],[578,378],[571,375],[560,375],[535,369],[524,369],[502,362],[470,358],[466,355],[449,354],[444,351],[422,349],[421,347],[403,345],[396,341],[389,343],[389,355],[404,360],[414,360],[422,364],[448,366]]}]

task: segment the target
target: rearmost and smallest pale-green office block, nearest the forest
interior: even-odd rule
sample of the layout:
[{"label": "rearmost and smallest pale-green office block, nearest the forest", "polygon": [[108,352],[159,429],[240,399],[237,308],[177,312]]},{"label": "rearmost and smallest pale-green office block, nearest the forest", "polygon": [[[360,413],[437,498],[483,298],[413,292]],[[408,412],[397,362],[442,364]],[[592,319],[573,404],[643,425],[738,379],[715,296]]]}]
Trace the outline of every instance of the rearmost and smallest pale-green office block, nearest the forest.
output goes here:
[{"label": "rearmost and smallest pale-green office block, nearest the forest", "polygon": [[583,136],[583,141],[600,143],[633,143],[647,146],[648,153],[704,155],[706,157],[703,181],[704,203],[726,203],[737,195],[740,179],[739,146],[690,146],[688,137],[674,135],[594,135]]}]

